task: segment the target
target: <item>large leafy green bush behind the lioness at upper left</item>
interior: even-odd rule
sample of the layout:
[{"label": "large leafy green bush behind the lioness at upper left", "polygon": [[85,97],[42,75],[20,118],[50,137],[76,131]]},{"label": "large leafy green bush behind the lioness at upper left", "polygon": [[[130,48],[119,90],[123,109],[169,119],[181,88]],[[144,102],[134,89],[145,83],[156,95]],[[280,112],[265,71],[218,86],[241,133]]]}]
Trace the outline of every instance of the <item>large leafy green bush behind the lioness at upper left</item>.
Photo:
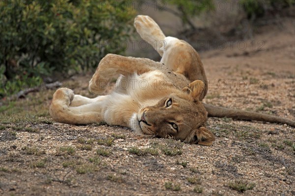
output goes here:
[{"label": "large leafy green bush behind the lioness at upper left", "polygon": [[6,80],[83,71],[121,53],[114,43],[130,34],[131,8],[116,0],[0,0],[0,94]]}]

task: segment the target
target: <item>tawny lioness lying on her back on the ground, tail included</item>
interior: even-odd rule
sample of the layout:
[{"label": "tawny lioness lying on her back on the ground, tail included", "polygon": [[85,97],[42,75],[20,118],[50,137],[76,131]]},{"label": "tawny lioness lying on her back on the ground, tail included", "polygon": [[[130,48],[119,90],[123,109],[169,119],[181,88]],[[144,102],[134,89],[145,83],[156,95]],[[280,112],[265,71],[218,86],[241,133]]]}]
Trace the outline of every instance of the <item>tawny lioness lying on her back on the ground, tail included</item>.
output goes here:
[{"label": "tawny lioness lying on her back on the ground, tail included", "polygon": [[[130,127],[138,134],[172,136],[207,146],[215,140],[206,128],[207,115],[295,125],[288,119],[202,103],[208,86],[197,51],[182,40],[166,37],[148,16],[137,16],[134,26],[161,55],[160,63],[106,55],[89,82],[89,90],[103,93],[110,80],[120,74],[114,90],[106,96],[86,98],[67,88],[58,89],[50,105],[50,115],[55,121],[69,124],[103,121]],[[159,47],[153,45],[155,41]]]}]

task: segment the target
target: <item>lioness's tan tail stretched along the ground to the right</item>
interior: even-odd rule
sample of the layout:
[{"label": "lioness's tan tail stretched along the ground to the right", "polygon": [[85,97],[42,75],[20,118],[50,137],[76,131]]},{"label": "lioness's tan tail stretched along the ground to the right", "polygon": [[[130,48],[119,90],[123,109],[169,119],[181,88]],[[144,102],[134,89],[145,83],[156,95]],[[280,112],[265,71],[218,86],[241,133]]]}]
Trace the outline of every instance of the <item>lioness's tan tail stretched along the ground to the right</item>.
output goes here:
[{"label": "lioness's tan tail stretched along the ground to the right", "polygon": [[262,122],[269,122],[269,123],[282,123],[282,124],[288,124],[290,126],[295,127],[295,121],[271,116],[267,114],[261,114],[258,112],[249,112],[244,110],[237,110],[237,109],[229,109],[225,107],[219,107],[215,105],[210,105],[204,103],[204,106],[208,112],[209,117],[228,117],[232,119],[238,119],[238,120],[253,120],[253,121],[262,121]]}]

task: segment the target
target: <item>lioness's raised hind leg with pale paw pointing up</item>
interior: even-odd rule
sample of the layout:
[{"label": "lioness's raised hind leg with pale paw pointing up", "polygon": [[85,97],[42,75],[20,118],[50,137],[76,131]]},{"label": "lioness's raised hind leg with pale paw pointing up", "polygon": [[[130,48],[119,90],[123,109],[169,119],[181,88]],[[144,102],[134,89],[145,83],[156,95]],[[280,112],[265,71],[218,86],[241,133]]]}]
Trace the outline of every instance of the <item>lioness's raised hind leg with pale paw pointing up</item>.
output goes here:
[{"label": "lioness's raised hind leg with pale paw pointing up", "polygon": [[[182,40],[165,37],[160,27],[149,16],[137,16],[134,26],[140,36],[162,56],[161,63],[173,72],[184,75],[190,81],[202,80],[204,82],[205,91],[201,96],[202,100],[207,94],[208,87],[207,77],[198,52]],[[156,48],[154,43],[158,45]]]}]

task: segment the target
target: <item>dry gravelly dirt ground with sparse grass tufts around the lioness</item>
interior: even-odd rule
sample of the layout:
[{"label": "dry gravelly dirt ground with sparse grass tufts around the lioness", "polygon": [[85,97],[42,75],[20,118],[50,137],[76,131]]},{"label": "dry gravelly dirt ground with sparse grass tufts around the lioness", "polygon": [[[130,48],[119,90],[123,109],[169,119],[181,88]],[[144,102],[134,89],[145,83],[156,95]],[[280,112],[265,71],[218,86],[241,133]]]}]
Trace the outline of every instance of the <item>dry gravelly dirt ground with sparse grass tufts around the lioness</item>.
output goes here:
[{"label": "dry gravelly dirt ground with sparse grass tufts around the lioness", "polygon": [[[294,29],[287,21],[265,27],[254,48],[249,40],[244,50],[201,53],[205,102],[295,120]],[[65,85],[93,97],[90,77]],[[105,124],[53,122],[53,93],[1,101],[1,196],[295,195],[295,129],[286,124],[209,118],[213,146],[189,145]]]}]

